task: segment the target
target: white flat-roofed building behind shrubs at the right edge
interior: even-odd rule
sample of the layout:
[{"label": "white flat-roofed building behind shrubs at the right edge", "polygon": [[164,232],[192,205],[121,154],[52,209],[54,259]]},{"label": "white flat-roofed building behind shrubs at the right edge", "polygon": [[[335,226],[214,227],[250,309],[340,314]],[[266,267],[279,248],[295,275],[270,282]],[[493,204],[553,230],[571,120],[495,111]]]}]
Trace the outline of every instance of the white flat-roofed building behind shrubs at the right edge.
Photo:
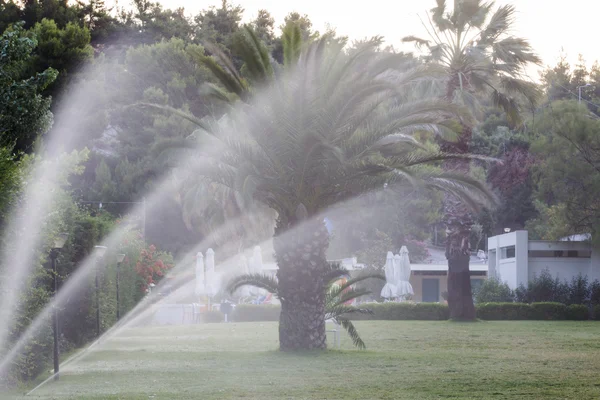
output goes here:
[{"label": "white flat-roofed building behind shrubs at the right edge", "polygon": [[600,253],[592,251],[589,236],[577,235],[561,241],[529,240],[527,231],[488,238],[489,276],[506,282],[511,289],[539,276],[544,270],[567,282],[582,274],[600,279]]}]

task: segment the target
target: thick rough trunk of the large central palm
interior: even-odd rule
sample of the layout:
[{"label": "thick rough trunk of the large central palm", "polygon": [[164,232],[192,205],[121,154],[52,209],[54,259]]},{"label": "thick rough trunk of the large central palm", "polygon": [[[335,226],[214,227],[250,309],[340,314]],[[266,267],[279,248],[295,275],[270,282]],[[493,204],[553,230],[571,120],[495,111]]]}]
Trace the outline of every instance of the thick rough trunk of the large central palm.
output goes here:
[{"label": "thick rough trunk of the large central palm", "polygon": [[279,270],[279,348],[297,351],[327,348],[325,334],[325,252],[329,233],[323,221],[303,221],[291,229],[275,227]]}]

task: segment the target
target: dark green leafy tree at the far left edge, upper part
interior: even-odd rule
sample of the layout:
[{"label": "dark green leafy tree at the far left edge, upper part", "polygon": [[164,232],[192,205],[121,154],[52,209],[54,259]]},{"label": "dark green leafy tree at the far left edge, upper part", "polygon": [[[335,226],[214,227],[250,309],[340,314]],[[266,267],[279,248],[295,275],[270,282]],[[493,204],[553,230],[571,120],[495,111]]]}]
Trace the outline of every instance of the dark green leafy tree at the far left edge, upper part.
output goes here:
[{"label": "dark green leafy tree at the far left edge, upper part", "polygon": [[56,70],[26,75],[37,43],[20,24],[0,37],[0,147],[31,151],[52,126],[51,99],[42,92],[56,79]]}]

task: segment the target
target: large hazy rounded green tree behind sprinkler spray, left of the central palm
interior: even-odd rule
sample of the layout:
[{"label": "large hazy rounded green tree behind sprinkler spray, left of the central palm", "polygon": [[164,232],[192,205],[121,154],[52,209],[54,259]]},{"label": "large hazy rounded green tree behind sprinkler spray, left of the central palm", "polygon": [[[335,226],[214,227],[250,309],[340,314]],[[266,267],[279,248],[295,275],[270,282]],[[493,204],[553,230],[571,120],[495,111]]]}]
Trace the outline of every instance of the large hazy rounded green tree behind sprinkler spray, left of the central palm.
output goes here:
[{"label": "large hazy rounded green tree behind sprinkler spray, left of the central palm", "polygon": [[[184,170],[175,172],[179,151],[190,147],[194,125],[174,115],[147,113],[132,104],[157,103],[186,110],[201,118],[211,112],[212,105],[198,90],[211,78],[208,70],[198,65],[204,49],[183,39],[172,38],[160,43],[130,48],[122,63],[98,60],[102,80],[97,96],[105,96],[98,108],[107,110],[108,126],[101,135],[91,138],[97,154],[86,164],[86,173],[74,183],[85,201],[139,201],[155,188],[165,171],[173,171],[169,196],[152,214],[146,216],[146,234],[150,243],[173,252],[185,252],[202,240],[208,229],[196,215],[184,208],[192,192],[178,186]],[[86,132],[89,132],[87,130]],[[108,167],[98,181],[96,169]],[[102,167],[105,169],[104,167]],[[104,189],[101,189],[101,188]],[[215,200],[217,201],[217,200]],[[130,205],[106,205],[114,215],[127,211]],[[202,215],[202,213],[198,213]]]}]

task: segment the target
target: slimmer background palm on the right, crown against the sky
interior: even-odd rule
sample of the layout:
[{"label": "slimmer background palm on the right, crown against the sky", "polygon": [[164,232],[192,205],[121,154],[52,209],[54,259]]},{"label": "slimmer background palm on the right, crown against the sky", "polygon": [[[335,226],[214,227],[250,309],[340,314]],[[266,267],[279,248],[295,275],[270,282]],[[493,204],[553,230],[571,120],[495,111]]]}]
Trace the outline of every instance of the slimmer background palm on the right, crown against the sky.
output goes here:
[{"label": "slimmer background palm on the right, crown against the sky", "polygon": [[[512,122],[518,122],[521,100],[534,103],[538,97],[537,86],[524,79],[525,69],[530,63],[538,64],[540,59],[526,40],[510,35],[515,8],[501,6],[492,14],[493,7],[493,1],[455,0],[454,8],[448,10],[445,0],[437,0],[423,22],[430,39],[409,36],[403,41],[427,49],[428,61],[445,69],[446,100],[474,107],[487,97]],[[458,140],[440,141],[441,150],[468,153],[471,133],[470,125],[463,124]],[[470,164],[466,159],[456,158],[446,161],[444,168],[468,174]],[[463,203],[451,194],[445,195],[444,222],[450,317],[474,319],[469,272],[473,219]]]}]

